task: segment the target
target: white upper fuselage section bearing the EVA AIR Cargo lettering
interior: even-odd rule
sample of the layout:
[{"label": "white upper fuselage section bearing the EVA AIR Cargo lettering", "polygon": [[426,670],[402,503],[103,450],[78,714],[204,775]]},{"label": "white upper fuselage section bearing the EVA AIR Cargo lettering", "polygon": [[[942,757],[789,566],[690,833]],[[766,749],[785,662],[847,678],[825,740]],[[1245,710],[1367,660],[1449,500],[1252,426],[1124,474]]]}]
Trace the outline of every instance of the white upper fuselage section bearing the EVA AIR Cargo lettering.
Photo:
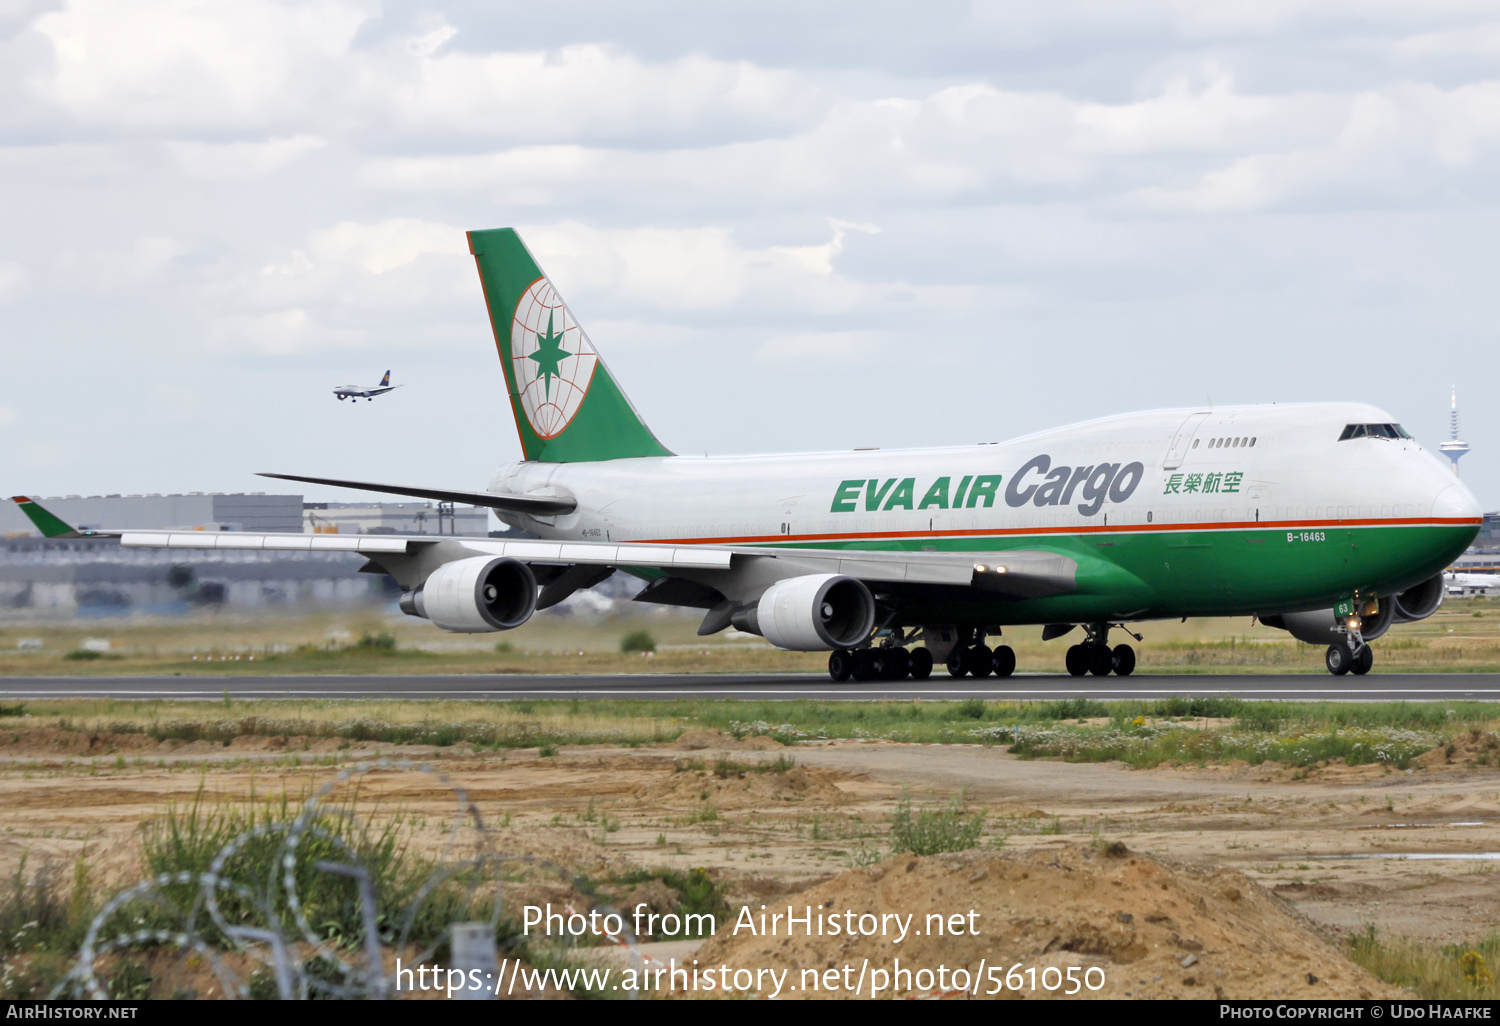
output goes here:
[{"label": "white upper fuselage section bearing the EVA AIR Cargo lettering", "polygon": [[[579,506],[567,516],[500,516],[540,537],[608,542],[882,548],[1162,525],[1478,518],[1468,489],[1416,441],[1340,441],[1348,423],[1392,420],[1364,404],[1164,410],[946,448],[522,462],[496,471],[489,488],[570,496]],[[1125,474],[1132,464],[1138,480]],[[1059,483],[1060,468],[1070,472]],[[975,495],[994,476],[998,486]]]}]

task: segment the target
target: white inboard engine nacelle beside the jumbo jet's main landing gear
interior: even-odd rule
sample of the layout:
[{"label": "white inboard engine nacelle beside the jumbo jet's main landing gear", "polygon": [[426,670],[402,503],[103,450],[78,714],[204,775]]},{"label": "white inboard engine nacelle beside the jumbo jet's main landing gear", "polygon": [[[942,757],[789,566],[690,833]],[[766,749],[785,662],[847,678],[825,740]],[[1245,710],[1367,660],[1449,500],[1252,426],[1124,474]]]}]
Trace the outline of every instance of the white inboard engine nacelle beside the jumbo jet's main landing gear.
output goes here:
[{"label": "white inboard engine nacelle beside the jumbo jet's main landing gear", "polygon": [[735,614],[735,627],[796,652],[849,648],[874,627],[874,596],[861,580],[838,573],[788,578]]}]

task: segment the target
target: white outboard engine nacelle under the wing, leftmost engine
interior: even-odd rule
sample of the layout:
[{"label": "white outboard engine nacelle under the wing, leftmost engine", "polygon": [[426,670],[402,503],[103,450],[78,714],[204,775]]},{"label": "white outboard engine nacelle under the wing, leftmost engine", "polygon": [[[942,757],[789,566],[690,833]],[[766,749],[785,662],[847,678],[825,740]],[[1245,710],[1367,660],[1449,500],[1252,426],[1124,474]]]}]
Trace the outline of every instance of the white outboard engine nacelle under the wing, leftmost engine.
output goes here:
[{"label": "white outboard engine nacelle under the wing, leftmost engine", "polygon": [[537,609],[531,567],[507,556],[454,560],[428,574],[422,588],[400,597],[400,609],[456,634],[510,630]]}]

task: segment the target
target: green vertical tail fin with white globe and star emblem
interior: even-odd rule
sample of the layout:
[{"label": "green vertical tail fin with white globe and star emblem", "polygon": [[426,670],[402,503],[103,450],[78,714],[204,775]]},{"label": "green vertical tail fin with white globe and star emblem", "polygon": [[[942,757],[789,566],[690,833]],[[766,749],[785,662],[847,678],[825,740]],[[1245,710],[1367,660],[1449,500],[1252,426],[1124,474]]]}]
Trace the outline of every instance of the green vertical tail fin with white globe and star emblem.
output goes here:
[{"label": "green vertical tail fin with white globe and star emblem", "polygon": [[526,459],[670,456],[514,228],[468,232]]}]

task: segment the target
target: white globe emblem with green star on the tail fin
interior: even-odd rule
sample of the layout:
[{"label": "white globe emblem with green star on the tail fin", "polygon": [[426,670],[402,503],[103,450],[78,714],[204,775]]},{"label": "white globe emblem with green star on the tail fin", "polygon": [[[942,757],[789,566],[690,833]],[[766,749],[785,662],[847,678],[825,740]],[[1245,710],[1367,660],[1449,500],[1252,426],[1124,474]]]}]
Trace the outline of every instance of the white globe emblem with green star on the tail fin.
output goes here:
[{"label": "white globe emblem with green star on the tail fin", "polygon": [[538,438],[555,438],[584,405],[598,356],[552,282],[538,278],[516,304],[510,368]]}]

